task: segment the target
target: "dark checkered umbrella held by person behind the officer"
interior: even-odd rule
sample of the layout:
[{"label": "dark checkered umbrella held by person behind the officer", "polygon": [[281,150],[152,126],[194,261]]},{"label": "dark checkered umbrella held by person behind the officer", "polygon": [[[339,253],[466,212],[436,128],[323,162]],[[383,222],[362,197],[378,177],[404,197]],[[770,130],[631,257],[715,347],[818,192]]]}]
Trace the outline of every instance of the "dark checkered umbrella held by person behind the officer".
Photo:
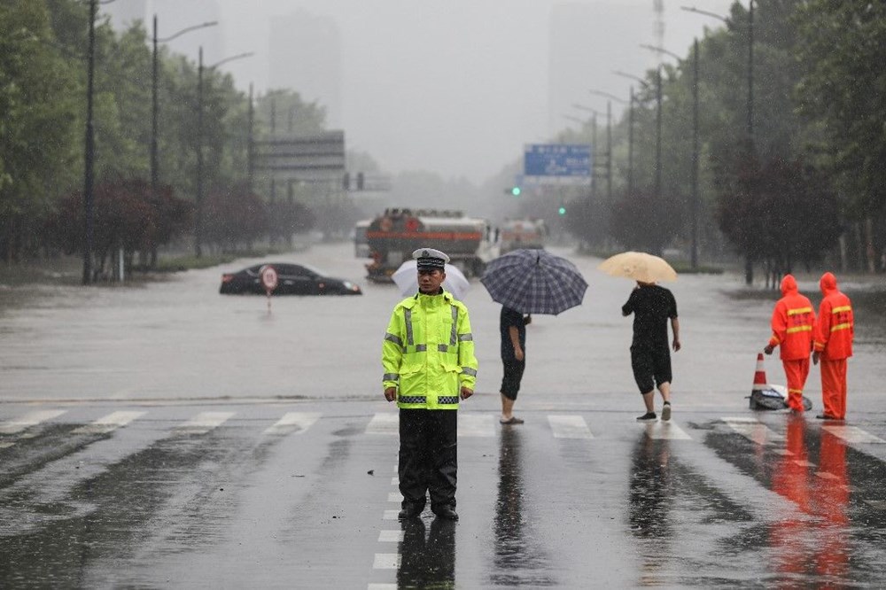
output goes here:
[{"label": "dark checkered umbrella held by person behind the officer", "polygon": [[587,283],[569,260],[544,250],[514,250],[491,261],[480,282],[494,301],[521,314],[560,314],[581,305]]}]

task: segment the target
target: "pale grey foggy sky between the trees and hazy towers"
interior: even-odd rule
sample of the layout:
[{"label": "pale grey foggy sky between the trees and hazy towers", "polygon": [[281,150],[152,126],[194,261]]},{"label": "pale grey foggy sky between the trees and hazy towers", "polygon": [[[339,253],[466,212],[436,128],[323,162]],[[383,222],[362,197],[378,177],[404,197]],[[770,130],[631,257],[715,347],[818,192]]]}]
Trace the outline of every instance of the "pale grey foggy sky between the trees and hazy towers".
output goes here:
[{"label": "pale grey foggy sky between the trees and hazy towers", "polygon": [[[200,0],[190,3],[193,12]],[[548,105],[550,14],[555,4],[592,5],[599,27],[577,51],[603,63],[587,88],[627,96],[631,81],[611,74],[616,55],[642,75],[657,56],[653,0],[215,0],[224,47],[217,55],[254,51],[223,66],[237,86],[268,87],[270,19],[307,10],[335,19],[341,37],[341,128],[349,150],[368,151],[385,172],[422,169],[483,182],[571,123]],[[728,14],[732,0],[664,0],[664,48],[685,56],[717,19],[680,10],[695,5]],[[607,26],[607,15],[639,14],[631,27]],[[623,15],[622,15],[623,16]],[[624,20],[624,19],[622,19]],[[618,19],[613,18],[613,23]],[[639,40],[639,41],[638,41]],[[176,48],[173,48],[176,49]],[[177,50],[177,49],[176,49]],[[297,58],[293,56],[293,58]],[[667,59],[667,58],[665,58]],[[605,110],[605,99],[575,97]],[[613,105],[614,113],[621,106]],[[581,116],[573,111],[571,114]],[[574,124],[573,124],[574,125]]]}]

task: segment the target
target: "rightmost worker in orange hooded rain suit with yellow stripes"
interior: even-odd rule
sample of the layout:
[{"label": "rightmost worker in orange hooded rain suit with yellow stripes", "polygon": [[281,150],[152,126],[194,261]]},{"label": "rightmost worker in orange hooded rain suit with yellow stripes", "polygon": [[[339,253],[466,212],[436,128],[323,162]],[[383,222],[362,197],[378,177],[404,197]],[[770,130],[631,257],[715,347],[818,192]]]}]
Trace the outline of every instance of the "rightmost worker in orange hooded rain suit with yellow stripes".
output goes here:
[{"label": "rightmost worker in orange hooded rain suit with yellow stripes", "polygon": [[836,287],[831,273],[821,276],[819,321],[815,326],[815,349],[812,362],[821,361],[821,403],[824,412],[815,416],[822,420],[846,419],[846,359],[852,356],[855,318],[852,304]]}]

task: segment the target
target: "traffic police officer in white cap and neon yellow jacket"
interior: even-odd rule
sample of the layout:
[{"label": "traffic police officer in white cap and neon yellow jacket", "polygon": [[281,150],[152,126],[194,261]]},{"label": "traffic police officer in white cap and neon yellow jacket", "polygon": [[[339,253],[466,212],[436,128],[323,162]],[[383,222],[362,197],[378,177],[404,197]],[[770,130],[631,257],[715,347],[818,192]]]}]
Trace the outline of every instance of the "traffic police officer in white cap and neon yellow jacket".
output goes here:
[{"label": "traffic police officer in white cap and neon yellow jacket", "polygon": [[468,308],[442,288],[449,257],[433,248],[412,253],[418,292],[394,307],[382,345],[385,400],[400,408],[399,517],[455,512],[458,402],[477,380]]}]

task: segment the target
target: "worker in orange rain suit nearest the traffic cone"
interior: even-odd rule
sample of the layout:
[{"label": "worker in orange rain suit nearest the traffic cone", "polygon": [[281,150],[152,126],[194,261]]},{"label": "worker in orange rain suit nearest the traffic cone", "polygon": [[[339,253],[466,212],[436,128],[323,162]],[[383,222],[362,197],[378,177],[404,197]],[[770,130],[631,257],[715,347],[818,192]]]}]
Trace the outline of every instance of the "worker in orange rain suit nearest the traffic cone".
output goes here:
[{"label": "worker in orange rain suit nearest the traffic cone", "polygon": [[788,406],[794,412],[802,412],[815,311],[812,302],[797,290],[797,279],[792,275],[785,275],[781,279],[781,299],[773,309],[772,329],[772,338],[769,338],[763,352],[772,354],[775,346],[781,348],[781,364],[788,377]]}]

